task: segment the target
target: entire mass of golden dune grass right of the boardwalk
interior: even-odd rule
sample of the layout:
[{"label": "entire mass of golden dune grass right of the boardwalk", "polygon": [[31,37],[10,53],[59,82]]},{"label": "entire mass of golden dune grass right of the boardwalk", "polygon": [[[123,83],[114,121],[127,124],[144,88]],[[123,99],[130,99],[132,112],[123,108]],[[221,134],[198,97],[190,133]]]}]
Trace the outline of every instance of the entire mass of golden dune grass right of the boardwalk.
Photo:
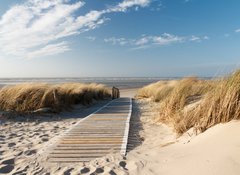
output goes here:
[{"label": "entire mass of golden dune grass right of the boardwalk", "polygon": [[148,85],[138,92],[137,98],[158,101],[156,122],[173,126],[178,134],[191,127],[204,131],[218,123],[240,119],[240,70],[222,80],[191,77],[172,86],[170,82]]}]

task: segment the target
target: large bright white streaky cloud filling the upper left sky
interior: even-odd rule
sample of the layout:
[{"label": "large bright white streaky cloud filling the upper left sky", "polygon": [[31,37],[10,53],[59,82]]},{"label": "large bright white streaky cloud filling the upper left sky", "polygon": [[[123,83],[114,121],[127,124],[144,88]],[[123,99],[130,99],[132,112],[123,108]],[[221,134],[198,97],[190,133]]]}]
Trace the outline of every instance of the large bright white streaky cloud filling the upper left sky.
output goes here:
[{"label": "large bright white streaky cloud filling the upper left sky", "polygon": [[149,3],[150,0],[124,0],[116,6],[76,16],[84,2],[27,0],[0,17],[0,52],[20,58],[63,53],[70,50],[63,42],[66,37],[95,29],[107,20],[105,14],[146,7]]}]

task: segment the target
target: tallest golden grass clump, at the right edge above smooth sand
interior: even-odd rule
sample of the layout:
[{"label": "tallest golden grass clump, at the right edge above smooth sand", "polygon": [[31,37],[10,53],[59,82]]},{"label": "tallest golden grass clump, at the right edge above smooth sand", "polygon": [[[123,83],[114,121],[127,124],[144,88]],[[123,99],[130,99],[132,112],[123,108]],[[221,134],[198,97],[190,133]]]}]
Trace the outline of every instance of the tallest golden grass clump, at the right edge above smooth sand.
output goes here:
[{"label": "tallest golden grass clump, at the right edge above smooth sand", "polygon": [[218,124],[240,119],[240,70],[219,80],[202,103],[187,117],[197,120],[197,129],[206,129]]}]

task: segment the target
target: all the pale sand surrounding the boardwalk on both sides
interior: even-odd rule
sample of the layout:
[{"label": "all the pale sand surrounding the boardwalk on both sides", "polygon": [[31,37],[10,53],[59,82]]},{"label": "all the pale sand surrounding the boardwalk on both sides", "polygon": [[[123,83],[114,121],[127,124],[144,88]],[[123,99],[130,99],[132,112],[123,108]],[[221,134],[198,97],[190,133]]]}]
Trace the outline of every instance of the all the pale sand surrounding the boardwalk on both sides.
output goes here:
[{"label": "all the pale sand surrounding the boardwalk on both sides", "polygon": [[[135,93],[136,90],[125,91],[123,96]],[[158,115],[153,112],[156,104],[140,100],[133,105],[134,127],[129,139],[132,150],[126,157],[106,155],[86,164],[49,164],[44,151],[79,120],[74,114],[83,117],[101,105],[77,108],[60,118],[0,120],[0,174],[240,174],[240,121],[176,139],[171,128],[152,123]],[[144,141],[139,145],[136,140]]]}]

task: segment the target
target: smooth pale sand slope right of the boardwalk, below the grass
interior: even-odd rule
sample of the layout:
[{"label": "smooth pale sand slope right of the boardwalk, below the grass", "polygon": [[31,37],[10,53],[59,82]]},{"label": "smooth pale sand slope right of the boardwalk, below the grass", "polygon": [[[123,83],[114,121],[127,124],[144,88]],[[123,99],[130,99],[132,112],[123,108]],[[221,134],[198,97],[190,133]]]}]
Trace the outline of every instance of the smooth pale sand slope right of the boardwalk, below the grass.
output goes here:
[{"label": "smooth pale sand slope right of the boardwalk, below the grass", "polygon": [[240,121],[216,125],[195,137],[185,134],[175,139],[167,126],[146,122],[147,117],[156,115],[149,114],[146,110],[142,114],[145,141],[127,156],[130,174],[240,174]]}]

